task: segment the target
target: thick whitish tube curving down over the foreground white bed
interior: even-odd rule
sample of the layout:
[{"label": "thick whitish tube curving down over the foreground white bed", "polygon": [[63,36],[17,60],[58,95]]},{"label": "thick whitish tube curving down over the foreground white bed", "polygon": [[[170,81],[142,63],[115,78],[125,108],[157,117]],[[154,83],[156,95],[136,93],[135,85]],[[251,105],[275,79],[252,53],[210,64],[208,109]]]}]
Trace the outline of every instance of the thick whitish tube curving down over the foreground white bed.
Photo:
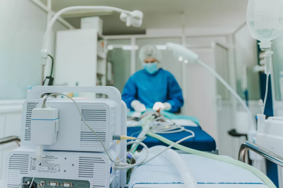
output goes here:
[{"label": "thick whitish tube curving down over the foreground white bed", "polygon": [[[154,147],[149,148],[149,153],[153,154],[159,154],[163,150],[165,150],[167,147],[162,145],[157,145]],[[181,175],[183,182],[185,184],[185,187],[189,188],[196,188],[197,187],[197,181],[192,176],[192,173],[188,166],[186,165],[185,161],[181,158],[180,154],[176,151],[169,149],[165,151],[163,154],[168,160],[170,160],[175,167],[177,168],[179,174]]]}]

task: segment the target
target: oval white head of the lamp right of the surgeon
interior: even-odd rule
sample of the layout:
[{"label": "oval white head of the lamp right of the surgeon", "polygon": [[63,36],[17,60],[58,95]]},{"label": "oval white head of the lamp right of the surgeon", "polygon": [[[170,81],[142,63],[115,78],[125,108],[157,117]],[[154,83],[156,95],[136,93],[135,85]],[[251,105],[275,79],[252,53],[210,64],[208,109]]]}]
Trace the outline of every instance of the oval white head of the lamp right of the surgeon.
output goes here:
[{"label": "oval white head of the lamp right of the surgeon", "polygon": [[175,43],[167,43],[167,47],[174,52],[174,56],[184,63],[196,63],[199,60],[199,55],[194,53],[192,50],[188,48],[175,44]]}]

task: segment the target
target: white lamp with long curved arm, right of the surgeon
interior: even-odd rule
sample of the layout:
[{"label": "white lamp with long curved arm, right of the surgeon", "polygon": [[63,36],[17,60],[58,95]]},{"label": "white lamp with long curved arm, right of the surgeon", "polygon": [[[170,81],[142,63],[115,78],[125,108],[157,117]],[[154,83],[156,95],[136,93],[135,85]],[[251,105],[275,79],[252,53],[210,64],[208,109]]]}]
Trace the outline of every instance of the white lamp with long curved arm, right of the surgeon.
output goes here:
[{"label": "white lamp with long curved arm, right of the surgeon", "polygon": [[248,112],[250,116],[250,121],[251,121],[251,130],[256,130],[256,126],[253,120],[253,114],[251,113],[250,109],[246,105],[246,103],[243,101],[243,99],[232,89],[232,87],[216,72],[214,69],[209,67],[207,64],[203,63],[199,59],[199,55],[194,53],[193,51],[187,49],[184,46],[181,46],[179,44],[175,43],[167,43],[166,44],[169,49],[171,49],[174,52],[174,55],[179,58],[180,61],[183,61],[185,63],[190,62],[190,63],[199,63],[201,66],[204,68],[208,69],[235,97],[236,99],[240,102],[240,104],[245,108],[245,110]]}]

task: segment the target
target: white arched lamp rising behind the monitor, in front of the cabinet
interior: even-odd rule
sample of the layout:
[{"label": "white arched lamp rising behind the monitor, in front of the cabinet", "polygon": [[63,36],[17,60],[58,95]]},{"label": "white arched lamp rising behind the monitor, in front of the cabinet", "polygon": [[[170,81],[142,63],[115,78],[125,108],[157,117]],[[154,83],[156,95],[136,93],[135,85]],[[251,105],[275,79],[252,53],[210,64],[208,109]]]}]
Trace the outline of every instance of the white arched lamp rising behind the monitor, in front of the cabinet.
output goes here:
[{"label": "white arched lamp rising behind the monitor, in front of the cabinet", "polygon": [[56,20],[64,13],[66,12],[72,12],[74,10],[104,10],[104,11],[115,11],[119,12],[120,14],[120,20],[123,22],[126,22],[126,26],[130,27],[131,25],[134,27],[140,27],[143,23],[143,12],[139,10],[134,11],[128,11],[123,10],[116,7],[109,7],[109,6],[73,6],[73,7],[67,7],[63,8],[59,12],[57,12],[53,18],[50,20],[50,23],[48,24],[46,31],[44,33],[43,38],[43,45],[41,50],[41,58],[42,58],[42,75],[41,75],[41,85],[43,85],[44,81],[44,67],[47,62],[48,57],[48,36],[50,36],[51,29],[56,22]]}]

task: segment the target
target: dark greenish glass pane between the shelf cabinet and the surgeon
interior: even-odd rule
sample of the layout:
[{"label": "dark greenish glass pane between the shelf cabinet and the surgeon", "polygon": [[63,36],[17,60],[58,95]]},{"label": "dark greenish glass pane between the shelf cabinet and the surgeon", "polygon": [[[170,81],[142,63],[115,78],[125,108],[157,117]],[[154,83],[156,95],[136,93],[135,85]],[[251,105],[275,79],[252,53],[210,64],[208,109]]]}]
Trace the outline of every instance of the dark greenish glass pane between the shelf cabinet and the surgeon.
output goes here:
[{"label": "dark greenish glass pane between the shelf cabinet and the surgeon", "polygon": [[[108,49],[112,46],[112,50],[108,50],[107,59],[112,63],[113,84],[121,93],[123,88],[131,76],[131,50],[123,50],[123,45],[130,45],[130,39],[107,40]],[[110,47],[111,49],[111,47]]]}]

